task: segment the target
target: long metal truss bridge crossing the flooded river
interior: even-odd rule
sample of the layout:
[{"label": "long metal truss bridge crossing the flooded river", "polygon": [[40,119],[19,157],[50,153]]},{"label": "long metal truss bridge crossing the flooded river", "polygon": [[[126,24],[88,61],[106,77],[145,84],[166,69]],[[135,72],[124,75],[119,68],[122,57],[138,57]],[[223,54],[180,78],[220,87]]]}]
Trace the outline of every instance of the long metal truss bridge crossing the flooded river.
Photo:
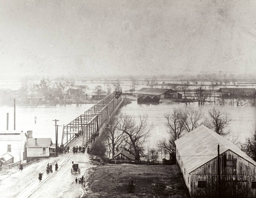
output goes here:
[{"label": "long metal truss bridge crossing the flooded river", "polygon": [[104,97],[96,105],[72,120],[62,129],[61,144],[87,147],[102,133],[108,120],[116,113],[124,99],[121,91]]}]

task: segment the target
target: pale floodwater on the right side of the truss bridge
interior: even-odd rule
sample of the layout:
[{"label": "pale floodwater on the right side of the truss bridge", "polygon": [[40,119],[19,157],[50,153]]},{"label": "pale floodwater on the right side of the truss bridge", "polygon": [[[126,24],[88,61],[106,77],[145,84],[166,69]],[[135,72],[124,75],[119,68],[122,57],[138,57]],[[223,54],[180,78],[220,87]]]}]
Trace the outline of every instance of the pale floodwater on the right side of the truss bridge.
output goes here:
[{"label": "pale floodwater on the right side of the truss bridge", "polygon": [[[213,107],[212,105],[198,106],[198,103],[190,103],[187,106],[184,103],[138,105],[137,101],[132,101],[132,104],[122,107],[121,112],[134,115],[135,117],[145,114],[148,116],[148,124],[153,124],[148,143],[154,146],[158,140],[168,137],[167,128],[165,126],[166,118],[164,117],[166,113],[172,113],[175,108],[193,108],[201,111],[204,117],[208,117],[208,111]],[[231,122],[229,122],[227,126],[227,129],[231,131],[229,136],[227,136],[228,139],[232,140],[238,137],[237,141],[245,142],[246,138],[251,137],[254,133],[254,126],[256,125],[256,107],[215,106],[215,108],[223,113],[227,113],[231,118]],[[201,121],[203,121],[203,119]]]}]

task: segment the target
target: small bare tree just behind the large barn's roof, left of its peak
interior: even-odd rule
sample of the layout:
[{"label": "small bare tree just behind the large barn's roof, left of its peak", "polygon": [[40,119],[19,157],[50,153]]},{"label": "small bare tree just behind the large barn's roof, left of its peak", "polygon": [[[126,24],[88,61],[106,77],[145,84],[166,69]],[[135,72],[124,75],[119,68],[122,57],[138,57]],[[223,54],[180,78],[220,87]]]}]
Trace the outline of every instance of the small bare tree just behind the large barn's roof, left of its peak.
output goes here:
[{"label": "small bare tree just behind the large barn's roof, left of its peak", "polygon": [[203,117],[203,113],[201,113],[200,111],[196,111],[192,108],[188,108],[183,113],[183,116],[185,117],[184,128],[187,132],[190,132],[198,127],[199,121]]}]

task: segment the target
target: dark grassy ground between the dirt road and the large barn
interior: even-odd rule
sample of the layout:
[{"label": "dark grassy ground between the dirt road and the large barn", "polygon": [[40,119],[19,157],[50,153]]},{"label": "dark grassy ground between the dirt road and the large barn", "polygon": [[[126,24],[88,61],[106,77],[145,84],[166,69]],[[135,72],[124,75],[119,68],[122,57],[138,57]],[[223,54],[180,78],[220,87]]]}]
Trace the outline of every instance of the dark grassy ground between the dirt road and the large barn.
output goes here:
[{"label": "dark grassy ground between the dirt road and the large barn", "polygon": [[188,197],[177,165],[99,165],[87,174],[83,198]]}]

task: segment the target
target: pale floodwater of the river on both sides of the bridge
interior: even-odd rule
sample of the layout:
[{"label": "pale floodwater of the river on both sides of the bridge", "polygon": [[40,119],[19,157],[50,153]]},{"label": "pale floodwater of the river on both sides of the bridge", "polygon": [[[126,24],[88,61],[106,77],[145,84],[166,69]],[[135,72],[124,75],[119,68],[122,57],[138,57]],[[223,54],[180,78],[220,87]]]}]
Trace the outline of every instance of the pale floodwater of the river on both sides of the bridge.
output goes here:
[{"label": "pale floodwater of the river on both sides of the bridge", "polygon": [[[34,138],[52,138],[55,141],[55,122],[58,119],[58,142],[61,141],[62,126],[67,125],[70,121],[78,117],[84,111],[91,108],[94,104],[84,104],[80,106],[37,106],[37,107],[19,107],[16,106],[16,130],[33,131]],[[147,115],[148,123],[153,124],[148,138],[150,146],[156,145],[158,140],[168,137],[167,128],[165,127],[164,114],[172,112],[175,108],[193,108],[204,113],[204,117],[208,116],[208,110],[214,106],[204,105],[198,106],[197,103],[190,103],[186,106],[183,103],[160,103],[159,105],[137,105],[137,101],[132,101],[120,109],[121,113],[131,114],[135,117],[139,115]],[[231,130],[229,139],[236,138],[244,142],[247,137],[251,137],[254,133],[256,125],[256,107],[250,106],[215,106],[221,112],[227,113],[232,121],[228,125]],[[0,107],[0,130],[6,130],[6,113],[9,113],[9,130],[13,130],[13,107]],[[36,117],[36,123],[35,123]],[[203,121],[203,120],[202,120]]]}]

